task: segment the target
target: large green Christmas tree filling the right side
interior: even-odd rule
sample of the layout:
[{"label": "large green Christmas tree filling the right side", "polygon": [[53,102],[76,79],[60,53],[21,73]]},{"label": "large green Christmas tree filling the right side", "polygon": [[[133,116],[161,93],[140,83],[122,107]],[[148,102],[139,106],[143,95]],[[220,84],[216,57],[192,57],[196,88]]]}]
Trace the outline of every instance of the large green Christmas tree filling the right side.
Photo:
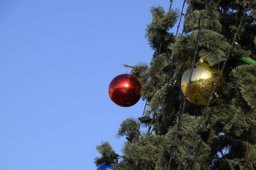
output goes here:
[{"label": "large green Christmas tree filling the right side", "polygon": [[[123,154],[103,142],[97,146],[102,156],[95,158],[96,165],[256,169],[256,1],[185,3],[187,10],[151,8],[146,39],[154,54],[150,65],[139,62],[131,70],[142,84],[144,112],[120,125],[117,137],[127,139]],[[181,20],[182,33],[172,33]],[[199,59],[208,78],[196,72]],[[187,80],[181,82],[187,69]]]}]

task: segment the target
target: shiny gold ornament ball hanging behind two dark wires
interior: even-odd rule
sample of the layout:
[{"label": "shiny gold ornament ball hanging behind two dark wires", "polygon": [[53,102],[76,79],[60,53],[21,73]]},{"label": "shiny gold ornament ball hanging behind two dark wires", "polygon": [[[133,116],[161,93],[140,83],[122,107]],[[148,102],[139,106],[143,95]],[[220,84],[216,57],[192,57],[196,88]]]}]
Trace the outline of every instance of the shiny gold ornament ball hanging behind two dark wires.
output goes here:
[{"label": "shiny gold ornament ball hanging behind two dark wires", "polygon": [[[204,106],[207,105],[210,93],[215,86],[214,83],[218,78],[218,75],[214,73],[220,73],[221,71],[209,67],[208,63],[205,62],[196,63],[195,66],[196,69],[193,70],[187,99],[193,104]],[[181,90],[184,95],[187,94],[190,73],[191,69],[186,70],[181,78]],[[224,87],[225,79],[222,74],[216,90],[214,91],[215,93],[212,95],[210,104],[213,104],[220,99],[224,92]]]}]

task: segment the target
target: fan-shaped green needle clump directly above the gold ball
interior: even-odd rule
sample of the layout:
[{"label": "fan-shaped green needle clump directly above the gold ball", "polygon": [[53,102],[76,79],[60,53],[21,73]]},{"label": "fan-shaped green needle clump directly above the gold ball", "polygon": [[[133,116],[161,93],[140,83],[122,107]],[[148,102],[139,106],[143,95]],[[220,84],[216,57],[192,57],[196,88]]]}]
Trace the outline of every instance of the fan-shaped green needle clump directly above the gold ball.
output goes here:
[{"label": "fan-shaped green needle clump directly above the gold ball", "polygon": [[[180,35],[171,49],[180,57],[180,61],[189,61],[185,66],[190,66],[193,59],[193,52],[197,43],[198,31],[193,31],[190,35]],[[230,45],[225,36],[220,33],[204,29],[200,36],[199,57],[203,58],[210,66],[217,65],[224,61],[221,56],[228,53]]]}]

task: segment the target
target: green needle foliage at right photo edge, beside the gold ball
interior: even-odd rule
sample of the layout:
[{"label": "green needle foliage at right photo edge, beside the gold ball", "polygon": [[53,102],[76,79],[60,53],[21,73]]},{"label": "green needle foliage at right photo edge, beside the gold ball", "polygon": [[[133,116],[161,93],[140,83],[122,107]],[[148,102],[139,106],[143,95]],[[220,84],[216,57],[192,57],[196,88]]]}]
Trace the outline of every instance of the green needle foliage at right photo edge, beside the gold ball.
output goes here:
[{"label": "green needle foliage at right photo edge, beside the gold ball", "polygon": [[235,137],[245,138],[249,133],[255,132],[256,123],[256,65],[242,65],[233,69],[230,73],[236,95],[230,107],[228,124],[224,130],[232,133]]}]

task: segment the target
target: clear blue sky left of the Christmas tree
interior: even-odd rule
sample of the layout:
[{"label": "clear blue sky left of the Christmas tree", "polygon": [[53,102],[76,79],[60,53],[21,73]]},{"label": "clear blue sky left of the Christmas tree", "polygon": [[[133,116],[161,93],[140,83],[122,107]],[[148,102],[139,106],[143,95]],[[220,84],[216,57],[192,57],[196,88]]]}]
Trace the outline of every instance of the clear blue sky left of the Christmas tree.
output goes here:
[{"label": "clear blue sky left of the Christmas tree", "polygon": [[170,1],[0,1],[1,170],[93,170],[101,141],[121,154],[114,135],[144,101],[118,107],[108,87],[122,64],[150,62],[144,29],[158,5]]}]

